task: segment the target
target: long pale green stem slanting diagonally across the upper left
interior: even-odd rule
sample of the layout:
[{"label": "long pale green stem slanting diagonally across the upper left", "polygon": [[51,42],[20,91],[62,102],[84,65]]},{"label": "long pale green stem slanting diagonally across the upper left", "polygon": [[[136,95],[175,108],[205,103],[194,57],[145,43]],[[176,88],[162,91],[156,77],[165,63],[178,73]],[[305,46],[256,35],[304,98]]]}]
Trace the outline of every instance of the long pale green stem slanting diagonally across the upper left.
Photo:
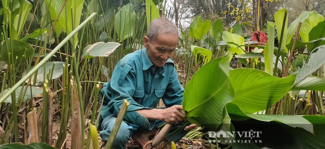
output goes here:
[{"label": "long pale green stem slanting diagonally across the upper left", "polygon": [[[88,18],[86,18],[79,26],[77,26],[69,35],[67,35],[48,55],[44,57],[37,65],[35,65],[25,76],[23,76],[15,85],[11,87],[1,98],[0,104],[9,97],[22,83],[24,83],[34,72],[36,72],[47,60],[52,58],[52,56],[66,43],[75,33],[77,33],[92,17],[96,15],[93,12]],[[8,66],[9,67],[9,66]]]}]

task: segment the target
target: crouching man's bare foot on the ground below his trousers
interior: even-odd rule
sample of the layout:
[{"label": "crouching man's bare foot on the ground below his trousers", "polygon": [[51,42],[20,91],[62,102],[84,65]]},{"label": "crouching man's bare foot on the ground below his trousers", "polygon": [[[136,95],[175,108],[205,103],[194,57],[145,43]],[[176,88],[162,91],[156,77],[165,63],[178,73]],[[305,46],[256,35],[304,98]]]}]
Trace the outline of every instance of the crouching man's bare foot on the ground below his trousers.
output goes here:
[{"label": "crouching man's bare foot on the ground below his trousers", "polygon": [[143,149],[150,149],[151,146],[150,144],[147,144],[152,138],[153,136],[156,134],[157,130],[153,129],[150,131],[146,131],[146,132],[134,132],[132,134],[132,140],[137,143],[140,144],[141,147],[145,146],[145,148]]}]

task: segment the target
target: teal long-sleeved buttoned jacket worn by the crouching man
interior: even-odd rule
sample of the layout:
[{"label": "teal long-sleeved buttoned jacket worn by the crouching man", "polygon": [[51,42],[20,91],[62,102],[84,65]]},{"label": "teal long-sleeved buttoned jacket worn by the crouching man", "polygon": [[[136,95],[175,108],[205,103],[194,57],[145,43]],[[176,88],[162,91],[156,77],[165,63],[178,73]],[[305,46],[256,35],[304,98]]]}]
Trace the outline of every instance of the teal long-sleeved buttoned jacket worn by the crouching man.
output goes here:
[{"label": "teal long-sleeved buttoned jacket worn by the crouching man", "polygon": [[137,50],[125,55],[116,64],[110,81],[103,84],[100,116],[102,119],[109,115],[117,117],[126,99],[129,106],[124,121],[151,130],[155,121],[148,121],[135,111],[156,108],[160,98],[167,108],[181,105],[183,91],[172,60],[168,59],[163,67],[156,67],[145,48]]}]

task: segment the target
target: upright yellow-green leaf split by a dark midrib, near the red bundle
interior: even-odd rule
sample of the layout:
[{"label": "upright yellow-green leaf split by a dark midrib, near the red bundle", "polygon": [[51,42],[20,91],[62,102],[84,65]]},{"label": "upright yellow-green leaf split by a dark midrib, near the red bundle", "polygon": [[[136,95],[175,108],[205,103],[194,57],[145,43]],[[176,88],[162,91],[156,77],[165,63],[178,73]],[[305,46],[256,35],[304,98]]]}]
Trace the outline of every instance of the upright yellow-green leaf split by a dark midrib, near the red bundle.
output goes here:
[{"label": "upright yellow-green leaf split by a dark midrib, near the red bundle", "polygon": [[[279,40],[278,42],[281,42],[281,47],[278,47],[279,49],[285,50],[287,53],[287,49],[285,47],[286,43],[286,30],[287,30],[287,21],[288,21],[288,15],[287,15],[287,10],[285,8],[282,8],[278,10],[274,14],[274,21],[275,21],[275,26],[276,26],[276,32],[277,32],[277,39]],[[282,41],[280,41],[282,39]]]}]

